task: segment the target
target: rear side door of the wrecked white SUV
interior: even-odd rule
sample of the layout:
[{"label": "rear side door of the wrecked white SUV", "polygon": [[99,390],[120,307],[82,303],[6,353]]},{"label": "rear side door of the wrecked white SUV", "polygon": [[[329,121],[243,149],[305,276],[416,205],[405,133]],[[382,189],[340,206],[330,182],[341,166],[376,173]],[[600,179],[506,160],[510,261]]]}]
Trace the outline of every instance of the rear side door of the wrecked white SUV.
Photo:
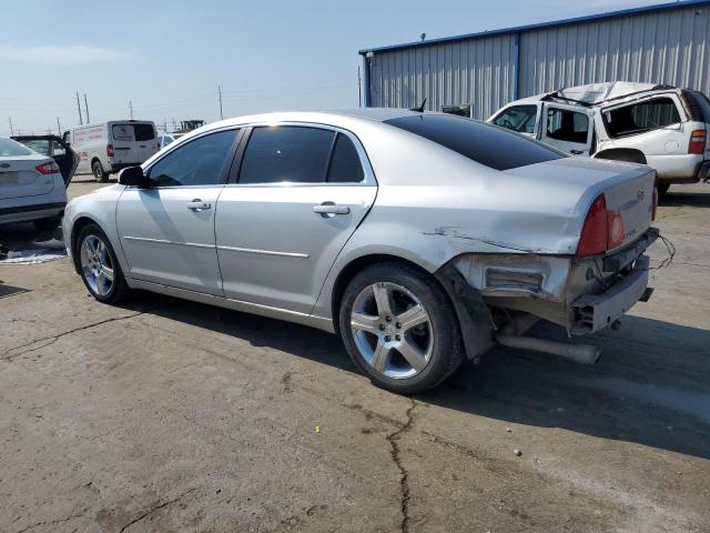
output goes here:
[{"label": "rear side door of the wrecked white SUV", "polygon": [[576,105],[546,103],[542,107],[540,140],[572,155],[589,157],[592,112]]}]

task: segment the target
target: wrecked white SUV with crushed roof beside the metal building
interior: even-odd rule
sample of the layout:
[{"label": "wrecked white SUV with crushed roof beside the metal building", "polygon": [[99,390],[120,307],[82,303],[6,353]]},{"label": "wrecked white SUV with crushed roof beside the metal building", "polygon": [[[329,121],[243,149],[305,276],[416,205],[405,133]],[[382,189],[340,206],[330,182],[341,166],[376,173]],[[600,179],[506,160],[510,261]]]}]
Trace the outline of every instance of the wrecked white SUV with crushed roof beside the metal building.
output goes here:
[{"label": "wrecked white SUV with crushed roof beside the metal building", "polygon": [[574,155],[645,163],[662,194],[710,174],[710,100],[650,83],[596,83],[517,100],[488,122]]}]

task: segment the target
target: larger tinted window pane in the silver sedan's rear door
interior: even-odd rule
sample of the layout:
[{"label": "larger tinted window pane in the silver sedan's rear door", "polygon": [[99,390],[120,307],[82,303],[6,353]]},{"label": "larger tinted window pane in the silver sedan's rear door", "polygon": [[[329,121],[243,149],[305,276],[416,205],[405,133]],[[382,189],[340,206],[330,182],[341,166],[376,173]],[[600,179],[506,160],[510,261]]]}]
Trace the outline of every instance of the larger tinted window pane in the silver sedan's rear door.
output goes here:
[{"label": "larger tinted window pane in the silver sedan's rear door", "polygon": [[323,183],[335,132],[297,125],[260,127],[244,152],[240,183]]}]

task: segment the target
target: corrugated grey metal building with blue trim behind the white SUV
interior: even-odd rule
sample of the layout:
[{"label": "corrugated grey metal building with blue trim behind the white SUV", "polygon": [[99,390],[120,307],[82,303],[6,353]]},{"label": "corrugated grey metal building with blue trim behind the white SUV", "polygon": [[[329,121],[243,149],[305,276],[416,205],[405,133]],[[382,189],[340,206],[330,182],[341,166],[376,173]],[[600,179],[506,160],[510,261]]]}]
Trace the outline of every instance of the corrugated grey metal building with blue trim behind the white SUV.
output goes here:
[{"label": "corrugated grey metal building with blue trim behind the white SUV", "polygon": [[366,107],[470,105],[486,119],[511,100],[564,87],[638,81],[710,94],[710,0],[361,50]]}]

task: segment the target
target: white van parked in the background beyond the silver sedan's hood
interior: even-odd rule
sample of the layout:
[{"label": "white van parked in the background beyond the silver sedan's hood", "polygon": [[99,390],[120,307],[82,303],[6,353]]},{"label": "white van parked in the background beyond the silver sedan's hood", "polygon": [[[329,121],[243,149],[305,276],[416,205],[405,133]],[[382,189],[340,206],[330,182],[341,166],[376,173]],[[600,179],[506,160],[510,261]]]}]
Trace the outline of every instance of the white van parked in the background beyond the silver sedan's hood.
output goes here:
[{"label": "white van parked in the background beyond the silver sedan's hood", "polygon": [[97,181],[141,164],[160,150],[155,124],[148,120],[111,120],[72,128],[64,141],[79,155],[77,173],[92,173]]}]

